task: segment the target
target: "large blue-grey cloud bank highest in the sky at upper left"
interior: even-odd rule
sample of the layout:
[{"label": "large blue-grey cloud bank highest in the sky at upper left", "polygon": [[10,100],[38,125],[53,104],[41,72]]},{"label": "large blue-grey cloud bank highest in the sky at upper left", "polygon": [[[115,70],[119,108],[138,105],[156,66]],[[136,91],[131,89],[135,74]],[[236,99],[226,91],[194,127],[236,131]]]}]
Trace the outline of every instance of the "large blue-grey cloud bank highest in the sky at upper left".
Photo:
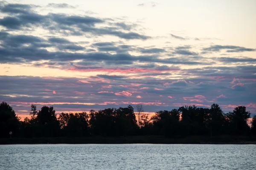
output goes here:
[{"label": "large blue-grey cloud bank highest in the sky at upper left", "polygon": [[[65,4],[53,4],[52,6],[67,6]],[[0,19],[0,26],[8,29],[25,30],[35,27],[48,29],[52,34],[81,36],[89,34],[94,36],[112,35],[126,40],[147,40],[151,37],[137,32],[127,32],[136,24],[114,23],[116,27],[96,26],[96,24],[113,24],[106,22],[108,18],[97,18],[90,16],[53,14],[41,15],[32,10],[32,6],[23,4],[7,4],[1,6],[1,11],[9,16]]]}]

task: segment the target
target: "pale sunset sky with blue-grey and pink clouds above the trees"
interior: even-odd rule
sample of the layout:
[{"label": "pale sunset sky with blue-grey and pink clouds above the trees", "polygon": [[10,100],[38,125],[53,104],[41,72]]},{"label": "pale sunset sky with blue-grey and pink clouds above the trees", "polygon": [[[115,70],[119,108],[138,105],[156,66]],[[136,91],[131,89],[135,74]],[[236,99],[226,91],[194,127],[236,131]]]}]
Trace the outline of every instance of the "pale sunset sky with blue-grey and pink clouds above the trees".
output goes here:
[{"label": "pale sunset sky with blue-grey and pink clouds above the trees", "polygon": [[0,1],[0,101],[256,113],[255,0]]}]

